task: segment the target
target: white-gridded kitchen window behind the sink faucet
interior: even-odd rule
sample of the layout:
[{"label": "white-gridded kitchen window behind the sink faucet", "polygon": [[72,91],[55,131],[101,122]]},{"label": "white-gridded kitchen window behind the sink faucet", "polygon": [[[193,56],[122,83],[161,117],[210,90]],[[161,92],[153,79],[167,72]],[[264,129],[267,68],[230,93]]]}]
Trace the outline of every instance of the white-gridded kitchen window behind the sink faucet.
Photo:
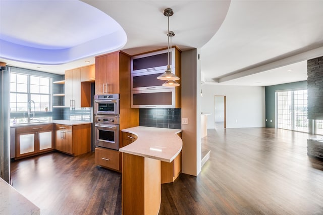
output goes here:
[{"label": "white-gridded kitchen window behind the sink faucet", "polygon": [[[35,112],[50,106],[50,78],[27,74],[10,74],[10,112],[27,112],[28,101]],[[34,110],[33,110],[34,109]]]}]

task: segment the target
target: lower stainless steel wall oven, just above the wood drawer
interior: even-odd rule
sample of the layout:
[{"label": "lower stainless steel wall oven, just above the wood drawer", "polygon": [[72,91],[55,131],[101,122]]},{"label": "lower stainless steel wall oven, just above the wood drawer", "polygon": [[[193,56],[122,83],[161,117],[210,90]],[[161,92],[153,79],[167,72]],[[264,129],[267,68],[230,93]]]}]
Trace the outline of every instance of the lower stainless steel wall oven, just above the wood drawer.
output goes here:
[{"label": "lower stainless steel wall oven, just above the wood drawer", "polygon": [[119,116],[95,116],[95,145],[119,150]]}]

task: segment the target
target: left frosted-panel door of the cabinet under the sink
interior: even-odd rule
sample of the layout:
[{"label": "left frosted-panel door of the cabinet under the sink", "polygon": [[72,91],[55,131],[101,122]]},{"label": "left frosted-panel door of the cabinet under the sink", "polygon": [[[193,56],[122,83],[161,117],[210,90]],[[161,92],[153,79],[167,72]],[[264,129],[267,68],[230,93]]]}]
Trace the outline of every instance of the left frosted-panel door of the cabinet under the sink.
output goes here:
[{"label": "left frosted-panel door of the cabinet under the sink", "polygon": [[35,133],[19,133],[17,134],[17,157],[34,154],[35,150]]}]

